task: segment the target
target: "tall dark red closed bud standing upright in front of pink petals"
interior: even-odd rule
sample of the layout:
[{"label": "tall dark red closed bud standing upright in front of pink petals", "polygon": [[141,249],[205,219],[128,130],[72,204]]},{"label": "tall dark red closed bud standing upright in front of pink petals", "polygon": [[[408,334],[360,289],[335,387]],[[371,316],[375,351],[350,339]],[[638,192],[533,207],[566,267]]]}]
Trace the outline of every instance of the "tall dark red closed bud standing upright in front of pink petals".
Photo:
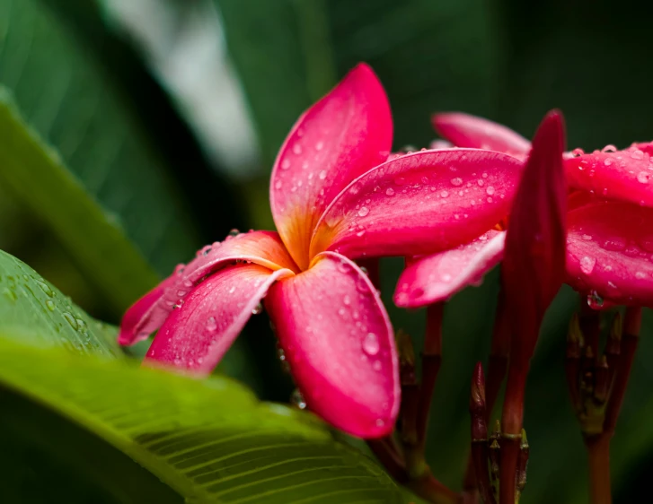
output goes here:
[{"label": "tall dark red closed bud standing upright in front of pink petals", "polygon": [[562,167],[560,112],[544,117],[534,135],[510,212],[501,279],[511,314],[510,365],[528,366],[544,313],[564,281],[568,189]]}]

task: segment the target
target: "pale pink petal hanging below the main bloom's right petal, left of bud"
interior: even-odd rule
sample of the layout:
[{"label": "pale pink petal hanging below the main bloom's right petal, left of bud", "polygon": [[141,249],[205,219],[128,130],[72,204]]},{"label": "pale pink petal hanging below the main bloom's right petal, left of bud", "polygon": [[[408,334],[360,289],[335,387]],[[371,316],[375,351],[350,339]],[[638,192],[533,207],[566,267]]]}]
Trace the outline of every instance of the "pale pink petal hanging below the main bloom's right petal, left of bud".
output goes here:
[{"label": "pale pink petal hanging below the main bloom's right petal, left of bud", "polygon": [[433,256],[419,257],[403,271],[394,292],[402,308],[419,308],[449,299],[478,284],[503,256],[505,231],[490,230],[470,243]]}]

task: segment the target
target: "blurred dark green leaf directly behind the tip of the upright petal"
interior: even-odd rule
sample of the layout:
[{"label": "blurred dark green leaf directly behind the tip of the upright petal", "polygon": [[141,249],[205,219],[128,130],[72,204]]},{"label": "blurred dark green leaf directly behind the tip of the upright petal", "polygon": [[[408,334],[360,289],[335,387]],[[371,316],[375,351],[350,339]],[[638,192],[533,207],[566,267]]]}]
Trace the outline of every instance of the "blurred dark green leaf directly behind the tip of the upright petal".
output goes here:
[{"label": "blurred dark green leaf directly behind the tip of the upright petal", "polygon": [[302,111],[360,61],[388,92],[397,146],[427,146],[437,109],[487,115],[496,106],[498,37],[482,0],[215,2],[267,161]]}]

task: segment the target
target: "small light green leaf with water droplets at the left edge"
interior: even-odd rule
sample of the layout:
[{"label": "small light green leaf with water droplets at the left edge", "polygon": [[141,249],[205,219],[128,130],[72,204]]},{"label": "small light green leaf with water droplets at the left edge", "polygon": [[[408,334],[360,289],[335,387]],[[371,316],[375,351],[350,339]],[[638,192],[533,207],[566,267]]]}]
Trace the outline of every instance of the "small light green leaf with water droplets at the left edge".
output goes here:
[{"label": "small light green leaf with water droplets at the left edge", "polygon": [[0,334],[81,354],[121,355],[114,327],[77,308],[30,266],[0,250]]}]

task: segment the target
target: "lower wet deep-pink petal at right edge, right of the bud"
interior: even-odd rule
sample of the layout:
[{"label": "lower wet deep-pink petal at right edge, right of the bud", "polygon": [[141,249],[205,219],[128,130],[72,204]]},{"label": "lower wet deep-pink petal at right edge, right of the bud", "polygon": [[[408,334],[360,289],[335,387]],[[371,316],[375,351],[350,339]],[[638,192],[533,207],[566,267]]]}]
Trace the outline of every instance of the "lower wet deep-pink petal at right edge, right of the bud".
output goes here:
[{"label": "lower wet deep-pink petal at right edge, right of the bud", "polygon": [[653,209],[608,202],[569,212],[567,282],[615,304],[653,306]]}]

